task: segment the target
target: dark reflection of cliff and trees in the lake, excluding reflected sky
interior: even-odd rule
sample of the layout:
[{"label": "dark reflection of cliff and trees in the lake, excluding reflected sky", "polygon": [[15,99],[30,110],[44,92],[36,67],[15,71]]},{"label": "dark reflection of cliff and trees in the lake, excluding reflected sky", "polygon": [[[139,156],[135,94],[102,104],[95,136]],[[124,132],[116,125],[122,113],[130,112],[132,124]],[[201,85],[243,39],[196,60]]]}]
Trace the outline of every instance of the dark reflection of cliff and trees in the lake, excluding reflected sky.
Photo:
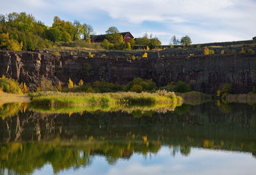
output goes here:
[{"label": "dark reflection of cliff and trees in the lake, excluding reflected sky", "polygon": [[256,155],[256,112],[247,104],[183,104],[174,111],[109,108],[52,114],[42,112],[45,109],[35,112],[27,103],[2,105],[0,174],[3,169],[31,173],[45,164],[58,173],[88,167],[95,156],[114,165],[119,159],[130,160],[134,153],[157,154],[163,146],[173,158],[189,157],[192,148]]}]

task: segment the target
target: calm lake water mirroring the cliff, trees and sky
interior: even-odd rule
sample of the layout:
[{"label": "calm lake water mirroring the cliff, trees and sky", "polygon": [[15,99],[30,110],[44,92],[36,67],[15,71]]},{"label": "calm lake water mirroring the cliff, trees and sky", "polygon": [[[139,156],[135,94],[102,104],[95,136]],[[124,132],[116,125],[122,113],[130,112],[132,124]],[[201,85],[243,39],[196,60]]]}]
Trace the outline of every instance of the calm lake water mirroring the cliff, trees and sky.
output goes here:
[{"label": "calm lake water mirroring the cliff, trees and sky", "polygon": [[0,116],[0,174],[256,174],[255,104],[6,103]]}]

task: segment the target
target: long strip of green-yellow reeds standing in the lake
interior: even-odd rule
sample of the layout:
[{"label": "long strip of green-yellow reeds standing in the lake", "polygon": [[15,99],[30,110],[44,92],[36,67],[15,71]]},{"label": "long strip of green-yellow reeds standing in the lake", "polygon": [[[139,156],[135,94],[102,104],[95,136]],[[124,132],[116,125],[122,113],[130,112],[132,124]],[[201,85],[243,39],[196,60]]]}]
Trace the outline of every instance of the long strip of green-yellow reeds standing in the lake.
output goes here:
[{"label": "long strip of green-yellow reeds standing in the lake", "polygon": [[182,98],[175,93],[159,91],[157,93],[31,93],[34,106],[68,107],[77,105],[129,104],[150,105],[155,103],[181,102]]}]

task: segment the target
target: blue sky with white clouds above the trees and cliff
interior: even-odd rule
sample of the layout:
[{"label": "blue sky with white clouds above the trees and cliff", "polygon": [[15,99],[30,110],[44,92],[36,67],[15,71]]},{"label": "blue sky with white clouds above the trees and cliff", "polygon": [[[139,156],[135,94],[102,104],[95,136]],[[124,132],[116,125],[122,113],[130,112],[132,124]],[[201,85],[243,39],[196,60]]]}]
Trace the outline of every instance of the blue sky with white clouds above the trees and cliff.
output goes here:
[{"label": "blue sky with white clouds above the trees and cliff", "polygon": [[95,34],[115,26],[134,37],[190,36],[193,43],[252,40],[256,36],[256,0],[0,0],[0,14],[31,13],[51,26],[61,20],[90,24]]}]

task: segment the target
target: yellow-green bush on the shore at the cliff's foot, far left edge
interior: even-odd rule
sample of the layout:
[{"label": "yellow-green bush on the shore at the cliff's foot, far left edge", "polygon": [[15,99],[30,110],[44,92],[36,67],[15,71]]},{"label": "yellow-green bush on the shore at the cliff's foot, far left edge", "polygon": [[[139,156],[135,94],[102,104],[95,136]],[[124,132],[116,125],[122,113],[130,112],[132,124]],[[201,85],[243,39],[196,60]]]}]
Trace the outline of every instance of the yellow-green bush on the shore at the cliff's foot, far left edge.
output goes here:
[{"label": "yellow-green bush on the shore at the cliff's foot, far left edge", "polygon": [[5,93],[22,93],[19,83],[16,80],[6,78],[4,75],[0,78],[0,89]]}]

